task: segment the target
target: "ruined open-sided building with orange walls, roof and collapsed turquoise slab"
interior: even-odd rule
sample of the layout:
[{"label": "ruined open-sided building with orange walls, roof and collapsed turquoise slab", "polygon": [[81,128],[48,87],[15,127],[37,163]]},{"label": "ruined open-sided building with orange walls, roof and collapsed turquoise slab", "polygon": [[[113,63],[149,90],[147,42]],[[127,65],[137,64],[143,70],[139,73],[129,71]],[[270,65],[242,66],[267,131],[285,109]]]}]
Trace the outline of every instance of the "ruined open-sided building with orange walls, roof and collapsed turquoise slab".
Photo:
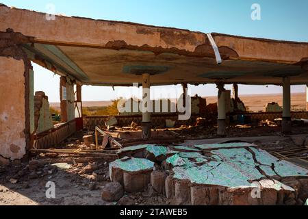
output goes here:
[{"label": "ruined open-sided building with orange walls, roof and collapsed turquoise slab", "polygon": [[[47,19],[44,13],[5,5],[0,5],[0,21],[0,164],[27,160],[31,149],[51,149],[85,127],[94,131],[95,127],[105,124],[103,117],[84,118],[81,99],[84,85],[133,86],[138,83],[145,90],[151,86],[181,84],[185,90],[188,84],[215,83],[218,104],[211,105],[215,108],[211,114],[215,116],[215,124],[209,127],[216,129],[215,137],[226,136],[229,114],[248,114],[238,97],[241,83],[283,86],[283,112],[277,113],[282,118],[283,133],[291,133],[292,118],[308,118],[307,112],[291,112],[290,102],[291,85],[308,86],[308,42],[204,34],[74,16]],[[35,73],[31,62],[61,76],[60,124],[51,123],[48,97],[44,92],[34,94]],[[225,88],[227,84],[234,85],[234,99],[231,99],[231,90]],[[149,95],[144,97],[151,100]],[[175,124],[194,126],[197,118],[206,120],[206,105],[205,99],[192,98],[192,116]],[[168,107],[171,108],[172,103],[168,103]],[[110,179],[118,183],[117,191],[141,192],[151,184],[175,204],[192,205],[281,204],[293,196],[305,197],[307,169],[281,162],[255,144],[166,146],[153,142],[164,138],[151,138],[151,129],[165,124],[166,120],[172,123],[179,115],[168,111],[166,115],[142,112],[116,117],[119,126],[133,122],[134,127],[138,124],[142,128],[138,136],[127,131],[118,135],[133,136],[129,140],[152,140],[152,144],[133,145],[118,151],[120,159],[110,163]],[[264,114],[250,116],[261,118]],[[98,130],[95,129],[95,133]],[[201,129],[194,130],[196,135],[199,132]],[[175,134],[181,139],[183,133]],[[97,137],[93,143],[91,136],[92,133],[88,146],[98,149],[101,139]],[[109,133],[99,144],[109,144],[109,149],[121,146],[113,138],[116,137]],[[157,165],[159,171],[153,172]],[[207,174],[204,179],[209,172],[211,175]],[[231,180],[234,177],[238,177],[237,180]],[[290,188],[286,177],[300,178],[301,190]],[[259,181],[267,191],[261,201],[247,196],[252,189],[251,179]],[[274,189],[276,185],[279,185],[278,190]],[[243,186],[246,187],[243,189]]]}]

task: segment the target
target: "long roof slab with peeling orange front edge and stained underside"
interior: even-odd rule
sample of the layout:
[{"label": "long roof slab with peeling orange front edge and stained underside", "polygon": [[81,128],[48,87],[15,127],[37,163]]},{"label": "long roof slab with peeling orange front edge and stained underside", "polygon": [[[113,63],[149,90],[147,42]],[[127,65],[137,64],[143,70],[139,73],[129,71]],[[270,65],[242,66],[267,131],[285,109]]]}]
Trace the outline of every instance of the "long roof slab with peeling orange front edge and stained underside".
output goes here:
[{"label": "long roof slab with peeling orange front edge and stained underside", "polygon": [[0,6],[0,31],[33,37],[25,44],[32,61],[49,62],[89,85],[131,86],[142,73],[152,85],[175,83],[308,83],[308,43],[212,34],[217,65],[206,34],[136,23],[55,16]]}]

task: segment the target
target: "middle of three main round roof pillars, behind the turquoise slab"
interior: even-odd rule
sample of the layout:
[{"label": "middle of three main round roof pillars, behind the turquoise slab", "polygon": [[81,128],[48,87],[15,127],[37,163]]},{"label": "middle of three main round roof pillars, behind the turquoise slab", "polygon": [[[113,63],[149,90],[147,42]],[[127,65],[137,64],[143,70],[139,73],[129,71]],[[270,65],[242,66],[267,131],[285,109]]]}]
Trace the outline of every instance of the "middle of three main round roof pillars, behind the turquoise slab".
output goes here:
[{"label": "middle of three main round roof pillars, behind the turquoise slab", "polygon": [[218,136],[226,135],[226,95],[227,92],[224,90],[224,85],[218,85],[218,119],[217,119],[217,134]]}]

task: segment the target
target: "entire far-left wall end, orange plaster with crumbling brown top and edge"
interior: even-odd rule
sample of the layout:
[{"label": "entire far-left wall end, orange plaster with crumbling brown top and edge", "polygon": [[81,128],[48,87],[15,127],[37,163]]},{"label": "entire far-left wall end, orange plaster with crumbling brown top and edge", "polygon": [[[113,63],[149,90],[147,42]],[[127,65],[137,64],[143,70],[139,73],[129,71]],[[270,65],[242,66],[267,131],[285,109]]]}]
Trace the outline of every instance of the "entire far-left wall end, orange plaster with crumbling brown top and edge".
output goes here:
[{"label": "entire far-left wall end, orange plaster with crumbling brown top and edge", "polygon": [[29,70],[21,44],[31,42],[12,29],[0,32],[0,165],[22,159],[29,149]]}]

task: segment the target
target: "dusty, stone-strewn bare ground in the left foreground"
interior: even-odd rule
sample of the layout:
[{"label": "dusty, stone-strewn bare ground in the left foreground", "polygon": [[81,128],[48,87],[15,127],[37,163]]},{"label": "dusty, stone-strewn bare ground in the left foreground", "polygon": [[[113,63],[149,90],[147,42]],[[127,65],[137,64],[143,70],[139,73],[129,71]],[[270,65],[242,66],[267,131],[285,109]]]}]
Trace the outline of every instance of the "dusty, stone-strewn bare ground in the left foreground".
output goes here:
[{"label": "dusty, stone-strewn bare ground in the left foreground", "polygon": [[[103,179],[97,181],[92,175],[92,170],[88,174],[82,173],[88,162],[76,164],[69,170],[61,170],[43,164],[47,160],[38,160],[42,165],[35,170],[36,176],[30,170],[25,170],[23,177],[16,176],[27,164],[11,166],[1,173],[0,205],[166,205],[164,196],[146,197],[146,192],[125,194],[118,203],[103,201],[101,189],[110,181],[107,162],[97,163],[99,172],[103,173]],[[56,159],[51,161],[53,162],[56,162]],[[48,173],[51,170],[52,173]],[[18,181],[12,183],[10,179]],[[55,198],[46,197],[48,181],[55,183]]]}]

